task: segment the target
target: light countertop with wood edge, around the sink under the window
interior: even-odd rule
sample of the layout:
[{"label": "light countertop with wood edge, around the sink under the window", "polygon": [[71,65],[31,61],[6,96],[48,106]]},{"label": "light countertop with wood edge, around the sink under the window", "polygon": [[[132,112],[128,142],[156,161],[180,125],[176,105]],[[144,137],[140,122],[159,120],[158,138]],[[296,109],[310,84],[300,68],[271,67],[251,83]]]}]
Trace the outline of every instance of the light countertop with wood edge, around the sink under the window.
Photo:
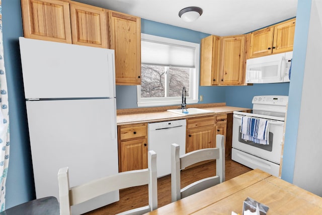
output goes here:
[{"label": "light countertop with wood edge, around the sink under the window", "polygon": [[[219,106],[214,105],[214,107],[204,107],[204,108],[197,107],[197,108],[213,111],[214,113],[183,116],[183,115],[169,112],[167,110],[160,110],[157,112],[130,113],[130,114],[122,114],[122,115],[118,114],[116,117],[116,120],[117,120],[117,125],[124,125],[124,124],[132,124],[132,123],[160,122],[160,121],[168,121],[168,120],[176,120],[176,119],[186,119],[189,117],[219,115],[219,114],[232,113],[233,111],[250,110],[249,108],[231,107],[231,106],[226,106],[222,104],[224,103],[220,103]],[[175,108],[169,108],[169,109],[175,109]]]}]

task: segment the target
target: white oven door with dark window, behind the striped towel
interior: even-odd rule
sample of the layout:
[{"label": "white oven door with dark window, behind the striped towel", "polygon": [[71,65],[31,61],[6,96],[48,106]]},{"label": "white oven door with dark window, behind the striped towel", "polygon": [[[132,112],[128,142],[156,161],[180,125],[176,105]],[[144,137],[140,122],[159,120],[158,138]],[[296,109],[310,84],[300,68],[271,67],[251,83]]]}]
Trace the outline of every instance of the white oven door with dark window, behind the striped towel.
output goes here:
[{"label": "white oven door with dark window, behind the striped towel", "polygon": [[233,114],[232,148],[279,164],[282,153],[284,121],[267,119],[270,121],[269,145],[262,145],[241,139],[240,126],[241,117],[243,116],[244,115]]}]

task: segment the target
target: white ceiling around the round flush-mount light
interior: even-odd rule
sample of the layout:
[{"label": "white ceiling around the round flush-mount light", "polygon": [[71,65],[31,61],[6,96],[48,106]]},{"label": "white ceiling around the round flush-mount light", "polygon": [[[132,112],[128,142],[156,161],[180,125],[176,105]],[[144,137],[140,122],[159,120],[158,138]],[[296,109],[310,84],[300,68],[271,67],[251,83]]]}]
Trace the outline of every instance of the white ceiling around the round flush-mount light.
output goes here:
[{"label": "white ceiling around the round flush-mount light", "polygon": [[[297,0],[74,0],[217,36],[245,34],[296,16]],[[203,10],[199,19],[186,23],[183,8]]]}]

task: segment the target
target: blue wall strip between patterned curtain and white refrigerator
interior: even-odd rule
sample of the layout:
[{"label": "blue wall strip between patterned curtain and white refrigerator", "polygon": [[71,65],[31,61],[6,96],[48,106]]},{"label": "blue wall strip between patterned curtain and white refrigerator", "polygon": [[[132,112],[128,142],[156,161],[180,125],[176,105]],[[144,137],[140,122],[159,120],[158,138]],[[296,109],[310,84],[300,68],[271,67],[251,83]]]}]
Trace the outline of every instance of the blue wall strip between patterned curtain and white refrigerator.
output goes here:
[{"label": "blue wall strip between patterned curtain and white refrigerator", "polygon": [[18,37],[23,36],[20,0],[2,1],[3,39],[10,114],[6,208],[35,198]]}]

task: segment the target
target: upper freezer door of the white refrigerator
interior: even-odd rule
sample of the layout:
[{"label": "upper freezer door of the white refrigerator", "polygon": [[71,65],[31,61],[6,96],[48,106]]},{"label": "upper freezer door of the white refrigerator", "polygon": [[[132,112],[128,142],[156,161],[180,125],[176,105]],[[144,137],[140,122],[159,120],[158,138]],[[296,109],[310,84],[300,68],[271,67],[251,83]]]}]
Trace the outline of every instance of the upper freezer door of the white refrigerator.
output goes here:
[{"label": "upper freezer door of the white refrigerator", "polygon": [[26,99],[115,98],[114,50],[19,38]]}]

